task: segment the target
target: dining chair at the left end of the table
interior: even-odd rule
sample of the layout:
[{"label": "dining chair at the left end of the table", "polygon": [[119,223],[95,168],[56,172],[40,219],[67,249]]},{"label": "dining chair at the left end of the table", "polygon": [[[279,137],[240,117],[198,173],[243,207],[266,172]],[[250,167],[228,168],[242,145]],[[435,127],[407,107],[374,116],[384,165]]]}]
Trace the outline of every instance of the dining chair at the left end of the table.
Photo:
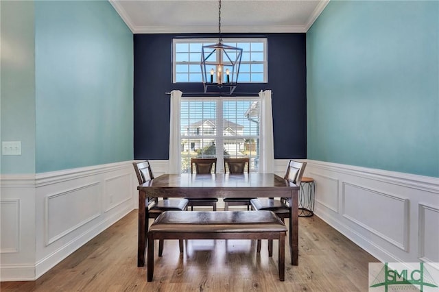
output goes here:
[{"label": "dining chair at the left end of the table", "polygon": [[[134,166],[134,171],[136,171],[137,180],[139,184],[145,184],[154,179],[154,174],[152,174],[152,169],[150,162],[145,160],[143,162],[132,162]],[[165,211],[182,211],[187,210],[188,205],[187,199],[168,199],[164,197],[163,199],[158,199],[157,197],[147,197],[145,199],[145,206],[148,212],[145,212],[145,221],[148,219],[156,219],[158,215]],[[183,252],[183,241],[179,242],[180,252]],[[158,241],[158,256],[162,256],[163,253],[163,239]]]}]

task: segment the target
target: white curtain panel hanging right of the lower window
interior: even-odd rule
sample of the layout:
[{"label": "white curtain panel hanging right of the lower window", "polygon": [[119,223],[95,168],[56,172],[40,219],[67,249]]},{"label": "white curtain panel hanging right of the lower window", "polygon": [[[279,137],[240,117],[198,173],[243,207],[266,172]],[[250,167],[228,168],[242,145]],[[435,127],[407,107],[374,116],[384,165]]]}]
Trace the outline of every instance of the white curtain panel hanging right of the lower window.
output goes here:
[{"label": "white curtain panel hanging right of the lower window", "polygon": [[274,173],[272,90],[261,90],[259,97],[261,97],[259,172]]}]

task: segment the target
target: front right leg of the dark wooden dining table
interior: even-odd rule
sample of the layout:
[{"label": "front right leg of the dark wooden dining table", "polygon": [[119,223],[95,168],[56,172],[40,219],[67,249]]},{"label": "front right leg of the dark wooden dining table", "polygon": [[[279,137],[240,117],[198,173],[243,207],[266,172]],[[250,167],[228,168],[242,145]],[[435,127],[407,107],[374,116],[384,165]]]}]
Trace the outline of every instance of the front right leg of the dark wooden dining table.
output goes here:
[{"label": "front right leg of the dark wooden dining table", "polygon": [[291,264],[299,264],[299,212],[298,212],[298,190],[291,191],[289,201],[289,254],[291,255]]}]

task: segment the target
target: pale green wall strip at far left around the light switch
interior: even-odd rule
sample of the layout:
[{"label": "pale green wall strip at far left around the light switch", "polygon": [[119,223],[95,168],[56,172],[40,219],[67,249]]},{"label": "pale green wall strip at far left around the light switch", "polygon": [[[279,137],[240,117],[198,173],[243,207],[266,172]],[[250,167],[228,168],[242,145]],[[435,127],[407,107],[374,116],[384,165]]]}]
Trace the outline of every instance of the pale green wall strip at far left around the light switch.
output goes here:
[{"label": "pale green wall strip at far left around the light switch", "polygon": [[1,173],[35,173],[34,1],[0,1],[1,141],[21,156],[0,156]]}]

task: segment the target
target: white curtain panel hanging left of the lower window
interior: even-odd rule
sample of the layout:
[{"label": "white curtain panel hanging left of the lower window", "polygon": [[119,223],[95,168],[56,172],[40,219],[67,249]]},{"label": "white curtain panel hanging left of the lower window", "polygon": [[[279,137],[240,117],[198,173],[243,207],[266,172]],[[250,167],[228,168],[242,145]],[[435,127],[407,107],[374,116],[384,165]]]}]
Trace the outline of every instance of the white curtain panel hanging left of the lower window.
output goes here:
[{"label": "white curtain panel hanging left of the lower window", "polygon": [[169,173],[180,173],[180,104],[182,92],[171,91],[171,119],[169,121]]}]

